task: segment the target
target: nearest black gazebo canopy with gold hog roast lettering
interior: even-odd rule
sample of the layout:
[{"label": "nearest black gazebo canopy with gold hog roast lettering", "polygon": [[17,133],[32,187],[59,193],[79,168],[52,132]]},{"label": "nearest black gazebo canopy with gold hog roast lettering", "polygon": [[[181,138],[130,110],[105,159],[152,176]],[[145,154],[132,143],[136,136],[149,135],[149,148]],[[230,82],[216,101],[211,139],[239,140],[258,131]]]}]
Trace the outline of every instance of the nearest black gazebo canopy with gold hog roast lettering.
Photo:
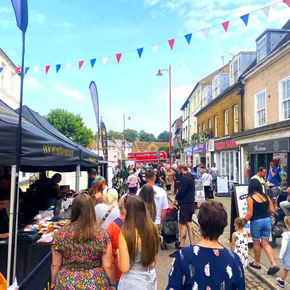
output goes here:
[{"label": "nearest black gazebo canopy with gold hog roast lettering", "polygon": [[[0,164],[16,164],[18,113],[0,100]],[[41,130],[22,117],[20,170],[75,171],[79,148]]]}]

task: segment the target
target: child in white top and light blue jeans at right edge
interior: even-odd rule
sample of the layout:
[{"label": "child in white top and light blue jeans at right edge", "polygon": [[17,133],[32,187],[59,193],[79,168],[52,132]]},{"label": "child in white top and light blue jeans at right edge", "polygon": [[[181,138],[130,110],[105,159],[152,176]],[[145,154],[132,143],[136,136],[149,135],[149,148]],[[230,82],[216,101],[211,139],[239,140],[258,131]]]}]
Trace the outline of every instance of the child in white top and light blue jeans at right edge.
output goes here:
[{"label": "child in white top and light blue jeans at right edge", "polygon": [[[284,216],[285,225],[287,229],[290,230],[290,216]],[[282,234],[282,244],[280,249],[279,258],[282,262],[283,270],[280,278],[277,278],[277,283],[284,287],[285,279],[287,277],[288,271],[290,270],[290,231],[285,231]]]}]

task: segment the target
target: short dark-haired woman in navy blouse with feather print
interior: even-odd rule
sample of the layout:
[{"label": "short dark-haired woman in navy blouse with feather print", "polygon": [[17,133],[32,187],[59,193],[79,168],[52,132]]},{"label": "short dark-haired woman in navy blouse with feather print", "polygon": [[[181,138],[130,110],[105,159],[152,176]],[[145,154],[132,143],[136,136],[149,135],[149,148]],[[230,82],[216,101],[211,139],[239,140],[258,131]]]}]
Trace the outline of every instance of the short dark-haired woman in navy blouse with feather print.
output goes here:
[{"label": "short dark-haired woman in navy blouse with feather print", "polygon": [[218,243],[227,225],[220,202],[205,201],[197,215],[200,241],[180,249],[169,272],[166,290],[244,290],[244,273],[238,255]]}]

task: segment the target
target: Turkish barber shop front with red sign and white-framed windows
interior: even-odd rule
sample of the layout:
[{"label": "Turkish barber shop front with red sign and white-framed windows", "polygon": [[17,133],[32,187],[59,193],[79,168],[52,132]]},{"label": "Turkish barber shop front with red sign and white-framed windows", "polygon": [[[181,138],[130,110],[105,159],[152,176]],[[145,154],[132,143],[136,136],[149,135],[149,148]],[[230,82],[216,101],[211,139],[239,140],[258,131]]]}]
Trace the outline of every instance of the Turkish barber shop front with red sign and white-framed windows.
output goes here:
[{"label": "Turkish barber shop front with red sign and white-framed windows", "polygon": [[214,162],[218,175],[227,176],[230,183],[240,183],[239,146],[233,138],[214,140]]}]

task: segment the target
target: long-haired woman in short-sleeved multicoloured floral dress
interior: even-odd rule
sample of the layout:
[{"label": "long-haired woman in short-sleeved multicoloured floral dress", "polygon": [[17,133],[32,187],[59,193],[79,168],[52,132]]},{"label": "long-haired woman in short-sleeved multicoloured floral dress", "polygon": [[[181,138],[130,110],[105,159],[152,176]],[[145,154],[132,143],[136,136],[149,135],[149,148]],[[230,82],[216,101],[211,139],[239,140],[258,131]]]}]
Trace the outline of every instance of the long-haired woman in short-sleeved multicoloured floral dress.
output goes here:
[{"label": "long-haired woman in short-sleeved multicoloured floral dress", "polygon": [[115,289],[110,236],[97,227],[87,194],[73,199],[71,222],[54,234],[51,249],[51,289]]}]

